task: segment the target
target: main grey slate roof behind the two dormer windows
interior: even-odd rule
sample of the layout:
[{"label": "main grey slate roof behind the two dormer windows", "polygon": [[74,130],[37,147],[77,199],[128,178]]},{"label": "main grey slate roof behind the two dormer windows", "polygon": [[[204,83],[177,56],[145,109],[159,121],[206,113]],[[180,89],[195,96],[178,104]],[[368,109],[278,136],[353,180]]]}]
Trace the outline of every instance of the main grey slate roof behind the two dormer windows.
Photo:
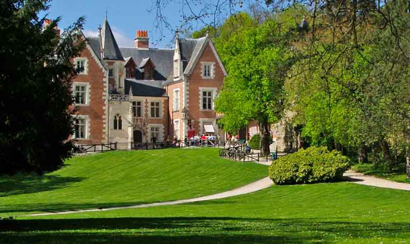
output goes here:
[{"label": "main grey slate roof behind the two dormer windows", "polygon": [[174,68],[174,50],[149,48],[141,50],[135,47],[120,47],[123,57],[132,57],[135,63],[150,58],[155,64],[154,80],[165,81]]}]

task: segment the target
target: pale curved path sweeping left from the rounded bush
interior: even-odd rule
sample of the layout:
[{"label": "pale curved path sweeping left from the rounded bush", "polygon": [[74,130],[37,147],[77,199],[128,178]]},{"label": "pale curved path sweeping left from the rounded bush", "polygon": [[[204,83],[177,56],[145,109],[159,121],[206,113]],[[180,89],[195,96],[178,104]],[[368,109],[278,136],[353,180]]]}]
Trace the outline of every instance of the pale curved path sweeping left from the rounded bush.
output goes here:
[{"label": "pale curved path sweeping left from the rounded bush", "polygon": [[207,200],[215,200],[227,197],[233,197],[238,195],[243,195],[255,191],[259,191],[271,186],[273,182],[269,179],[269,177],[265,177],[262,180],[244,185],[242,187],[225,191],[222,193],[209,195],[205,197],[199,198],[191,198],[186,200],[177,200],[177,201],[169,201],[169,202],[162,202],[162,203],[147,203],[147,204],[139,204],[139,205],[131,205],[131,206],[122,206],[122,207],[107,207],[102,209],[85,209],[85,210],[76,210],[76,211],[65,211],[65,212],[53,212],[53,213],[39,213],[39,214],[30,214],[27,216],[44,216],[44,215],[56,215],[56,214],[70,214],[70,213],[84,213],[84,212],[95,212],[95,211],[108,211],[108,210],[116,210],[116,209],[126,209],[126,208],[138,208],[138,207],[153,207],[153,206],[164,206],[164,205],[175,205],[181,203],[195,203]]}]

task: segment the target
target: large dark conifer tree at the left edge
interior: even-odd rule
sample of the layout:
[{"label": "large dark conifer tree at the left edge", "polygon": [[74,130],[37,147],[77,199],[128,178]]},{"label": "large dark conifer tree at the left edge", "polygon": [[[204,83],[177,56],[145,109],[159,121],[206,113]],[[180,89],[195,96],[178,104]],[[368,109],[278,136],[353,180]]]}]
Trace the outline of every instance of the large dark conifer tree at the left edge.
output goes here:
[{"label": "large dark conifer tree at the left edge", "polygon": [[60,19],[44,28],[38,16],[48,2],[0,3],[0,174],[55,170],[71,155],[72,58],[83,48],[78,31],[84,19],[60,38]]}]

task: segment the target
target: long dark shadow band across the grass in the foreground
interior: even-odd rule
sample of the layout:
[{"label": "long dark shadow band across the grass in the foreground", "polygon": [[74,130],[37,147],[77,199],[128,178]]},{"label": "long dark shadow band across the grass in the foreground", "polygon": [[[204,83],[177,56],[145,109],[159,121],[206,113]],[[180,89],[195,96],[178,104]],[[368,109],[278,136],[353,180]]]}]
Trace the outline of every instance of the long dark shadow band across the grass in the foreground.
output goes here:
[{"label": "long dark shadow band across the grass in the foreground", "polygon": [[0,243],[331,243],[377,236],[410,238],[408,223],[321,220],[231,217],[13,220],[0,225],[3,232]]}]

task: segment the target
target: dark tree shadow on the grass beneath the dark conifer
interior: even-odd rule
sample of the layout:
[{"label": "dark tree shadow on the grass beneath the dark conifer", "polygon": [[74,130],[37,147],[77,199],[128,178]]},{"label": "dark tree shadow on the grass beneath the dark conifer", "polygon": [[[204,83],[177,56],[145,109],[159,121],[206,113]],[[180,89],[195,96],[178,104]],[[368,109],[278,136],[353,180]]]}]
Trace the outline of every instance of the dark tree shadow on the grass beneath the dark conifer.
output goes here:
[{"label": "dark tree shadow on the grass beneath the dark conifer", "polygon": [[0,197],[55,190],[85,179],[84,177],[56,175],[2,176],[0,177]]}]

